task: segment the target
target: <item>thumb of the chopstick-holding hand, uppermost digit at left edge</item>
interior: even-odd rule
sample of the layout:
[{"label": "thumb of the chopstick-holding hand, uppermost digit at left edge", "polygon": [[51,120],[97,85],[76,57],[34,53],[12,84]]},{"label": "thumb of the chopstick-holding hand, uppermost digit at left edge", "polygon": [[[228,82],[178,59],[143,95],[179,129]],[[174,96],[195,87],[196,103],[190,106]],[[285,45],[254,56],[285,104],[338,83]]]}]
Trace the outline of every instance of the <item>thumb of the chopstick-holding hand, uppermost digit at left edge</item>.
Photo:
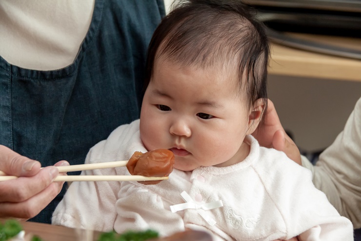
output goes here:
[{"label": "thumb of the chopstick-holding hand, uppermost digit at left edge", "polygon": [[32,176],[39,172],[39,161],[22,156],[0,145],[0,170],[8,175]]}]

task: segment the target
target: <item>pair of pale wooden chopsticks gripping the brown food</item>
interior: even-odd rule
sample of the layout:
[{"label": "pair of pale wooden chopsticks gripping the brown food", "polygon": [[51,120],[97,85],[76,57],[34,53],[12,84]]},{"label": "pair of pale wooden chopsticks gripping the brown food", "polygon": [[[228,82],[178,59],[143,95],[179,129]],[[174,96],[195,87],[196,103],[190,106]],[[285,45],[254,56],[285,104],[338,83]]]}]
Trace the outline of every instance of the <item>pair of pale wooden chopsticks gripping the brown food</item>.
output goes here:
[{"label": "pair of pale wooden chopsticks gripping the brown food", "polygon": [[[126,166],[128,161],[111,161],[57,167],[59,173],[115,168]],[[16,179],[18,176],[6,175],[0,171],[0,181]],[[154,181],[165,180],[168,176],[142,176],[142,175],[58,175],[54,181]]]}]

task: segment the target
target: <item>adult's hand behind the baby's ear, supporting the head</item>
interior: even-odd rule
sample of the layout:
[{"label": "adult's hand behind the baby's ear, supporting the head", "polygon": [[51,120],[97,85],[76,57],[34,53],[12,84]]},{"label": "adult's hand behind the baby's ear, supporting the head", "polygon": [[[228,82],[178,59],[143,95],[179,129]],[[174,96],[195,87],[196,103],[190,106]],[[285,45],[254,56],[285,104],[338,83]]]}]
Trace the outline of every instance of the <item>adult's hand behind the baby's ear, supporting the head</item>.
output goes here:
[{"label": "adult's hand behind the baby's ear, supporting the head", "polygon": [[261,146],[284,152],[288,158],[301,165],[300,150],[284,131],[271,100],[268,100],[268,108],[264,113],[264,122],[258,126],[252,135],[258,140]]}]

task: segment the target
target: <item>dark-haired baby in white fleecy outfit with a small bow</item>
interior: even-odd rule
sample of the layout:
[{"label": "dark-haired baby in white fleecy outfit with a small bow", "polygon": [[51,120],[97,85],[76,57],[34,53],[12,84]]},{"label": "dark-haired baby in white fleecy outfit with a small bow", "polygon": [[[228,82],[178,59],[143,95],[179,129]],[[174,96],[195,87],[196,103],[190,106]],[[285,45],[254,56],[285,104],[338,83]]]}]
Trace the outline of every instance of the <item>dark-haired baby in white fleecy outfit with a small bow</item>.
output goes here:
[{"label": "dark-haired baby in white fleecy outfit with a small bow", "polygon": [[[214,240],[352,241],[311,173],[250,134],[267,108],[269,45],[239,0],[181,2],[151,40],[140,120],[94,146],[86,162],[168,149],[169,180],[74,182],[53,224],[99,231],[187,228]],[[125,167],[82,175],[130,175]]]}]

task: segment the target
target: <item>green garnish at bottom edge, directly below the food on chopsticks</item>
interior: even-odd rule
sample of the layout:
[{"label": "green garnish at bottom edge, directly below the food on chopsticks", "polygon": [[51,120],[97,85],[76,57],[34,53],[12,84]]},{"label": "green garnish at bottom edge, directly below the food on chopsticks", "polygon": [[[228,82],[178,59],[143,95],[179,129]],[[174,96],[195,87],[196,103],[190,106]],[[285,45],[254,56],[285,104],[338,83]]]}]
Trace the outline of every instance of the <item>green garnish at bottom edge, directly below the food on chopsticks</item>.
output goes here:
[{"label": "green garnish at bottom edge, directly below the food on chopsticks", "polygon": [[158,232],[150,229],[140,232],[128,231],[122,234],[117,234],[115,231],[111,231],[100,234],[98,241],[145,241],[158,237]]}]

